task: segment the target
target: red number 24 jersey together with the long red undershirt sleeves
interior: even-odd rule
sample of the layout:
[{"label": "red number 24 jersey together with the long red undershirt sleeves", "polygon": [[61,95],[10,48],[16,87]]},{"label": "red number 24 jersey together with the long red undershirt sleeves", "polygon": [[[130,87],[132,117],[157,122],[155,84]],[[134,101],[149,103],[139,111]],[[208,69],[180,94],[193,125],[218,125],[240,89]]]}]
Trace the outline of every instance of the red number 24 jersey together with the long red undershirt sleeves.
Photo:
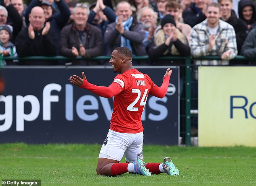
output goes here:
[{"label": "red number 24 jersey together with the long red undershirt sleeves", "polygon": [[116,132],[138,133],[143,131],[141,115],[147,96],[151,94],[159,98],[164,97],[169,80],[170,76],[164,77],[161,87],[158,87],[147,74],[131,69],[115,76],[108,87],[93,85],[86,79],[83,79],[80,87],[102,97],[115,96],[110,129]]}]

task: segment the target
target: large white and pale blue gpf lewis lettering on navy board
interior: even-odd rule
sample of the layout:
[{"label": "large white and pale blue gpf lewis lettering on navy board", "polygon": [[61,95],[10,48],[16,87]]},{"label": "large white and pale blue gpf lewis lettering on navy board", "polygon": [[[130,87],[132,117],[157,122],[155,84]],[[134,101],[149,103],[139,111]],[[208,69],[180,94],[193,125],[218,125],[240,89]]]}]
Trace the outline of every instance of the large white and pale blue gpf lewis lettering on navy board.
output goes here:
[{"label": "large white and pale blue gpf lewis lettering on navy board", "polygon": [[[24,122],[31,122],[38,118],[40,112],[42,112],[42,120],[51,120],[51,104],[57,104],[59,102],[59,95],[51,95],[52,91],[60,92],[61,85],[57,83],[50,83],[46,85],[42,90],[42,98],[38,98],[35,95],[16,95],[16,130],[24,131]],[[97,99],[99,98],[99,99]],[[42,99],[42,111],[40,111],[40,99]],[[0,114],[0,121],[4,121],[0,125],[0,132],[8,130],[13,124],[13,101],[15,97],[13,95],[0,95],[0,102],[4,103],[4,113]],[[168,108],[164,105],[167,103],[168,97],[158,99],[156,97],[150,97],[147,101],[147,105],[151,110],[157,112],[157,114],[147,113],[146,109],[143,112],[142,120],[146,117],[152,121],[162,121],[168,116]],[[86,104],[85,104],[86,102]],[[31,105],[31,112],[25,113],[24,105],[29,103]],[[73,99],[73,85],[65,85],[65,119],[73,121],[74,112],[83,121],[95,121],[99,118],[97,110],[99,110],[99,104],[102,105],[107,120],[111,119],[113,108],[109,103],[109,99],[99,97],[97,95],[83,95],[78,100]],[[87,114],[86,110],[95,110],[93,114]]]}]

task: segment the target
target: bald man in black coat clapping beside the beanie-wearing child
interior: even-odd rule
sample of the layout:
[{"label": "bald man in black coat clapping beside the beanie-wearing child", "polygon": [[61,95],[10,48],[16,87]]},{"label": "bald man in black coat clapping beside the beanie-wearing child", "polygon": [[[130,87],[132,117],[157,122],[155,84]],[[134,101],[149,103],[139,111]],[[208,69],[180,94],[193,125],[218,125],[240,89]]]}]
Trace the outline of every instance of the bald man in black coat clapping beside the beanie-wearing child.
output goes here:
[{"label": "bald man in black coat clapping beside the beanie-wearing child", "polygon": [[[39,20],[39,21],[38,21]],[[40,6],[32,8],[29,14],[30,24],[23,29],[16,38],[16,51],[19,57],[26,56],[55,56],[56,36],[50,29],[50,22],[45,22],[44,10]],[[21,60],[23,65],[55,65],[53,60]]]}]

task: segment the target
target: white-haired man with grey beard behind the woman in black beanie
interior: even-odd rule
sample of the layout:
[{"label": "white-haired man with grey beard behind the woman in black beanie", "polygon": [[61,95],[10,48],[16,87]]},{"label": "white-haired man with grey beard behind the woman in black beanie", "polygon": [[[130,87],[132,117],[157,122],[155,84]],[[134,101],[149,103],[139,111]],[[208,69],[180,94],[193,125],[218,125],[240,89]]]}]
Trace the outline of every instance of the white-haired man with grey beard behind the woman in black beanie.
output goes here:
[{"label": "white-haired man with grey beard behind the woman in black beanie", "polygon": [[138,11],[137,20],[144,26],[145,38],[143,39],[143,45],[148,51],[156,29],[156,14],[152,8],[145,6]]}]

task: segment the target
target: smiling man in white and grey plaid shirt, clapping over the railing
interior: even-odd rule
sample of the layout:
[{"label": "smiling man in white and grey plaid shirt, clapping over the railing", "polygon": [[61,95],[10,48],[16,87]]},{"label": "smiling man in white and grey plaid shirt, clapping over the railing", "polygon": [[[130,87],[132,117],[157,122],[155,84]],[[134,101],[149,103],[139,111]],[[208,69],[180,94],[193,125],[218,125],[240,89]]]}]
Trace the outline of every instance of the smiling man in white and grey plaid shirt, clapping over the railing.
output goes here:
[{"label": "smiling man in white and grey plaid shirt, clapping over the railing", "polygon": [[[195,60],[196,65],[229,65],[229,60],[237,55],[234,28],[220,20],[220,4],[210,3],[206,9],[207,19],[191,30],[191,56],[221,56],[222,60]],[[197,79],[197,70],[195,70]]]}]

